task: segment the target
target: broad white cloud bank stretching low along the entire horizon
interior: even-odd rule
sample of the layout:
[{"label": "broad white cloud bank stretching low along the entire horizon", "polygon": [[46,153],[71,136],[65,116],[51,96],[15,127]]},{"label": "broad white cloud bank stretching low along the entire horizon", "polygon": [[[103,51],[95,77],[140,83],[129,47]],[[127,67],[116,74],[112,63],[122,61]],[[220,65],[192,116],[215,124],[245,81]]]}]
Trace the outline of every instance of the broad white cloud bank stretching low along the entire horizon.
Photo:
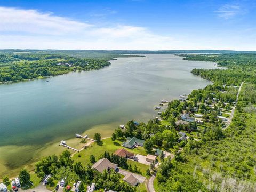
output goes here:
[{"label": "broad white cloud bank stretching low along the entire horizon", "polygon": [[[105,49],[171,50],[236,49],[255,50],[255,42],[245,35],[198,34],[184,31],[173,35],[155,34],[132,25],[103,27],[38,10],[0,7],[0,49]],[[233,38],[232,38],[233,37]],[[246,36],[247,37],[247,36]],[[255,38],[254,38],[255,39]],[[246,42],[243,46],[241,41]]]}]

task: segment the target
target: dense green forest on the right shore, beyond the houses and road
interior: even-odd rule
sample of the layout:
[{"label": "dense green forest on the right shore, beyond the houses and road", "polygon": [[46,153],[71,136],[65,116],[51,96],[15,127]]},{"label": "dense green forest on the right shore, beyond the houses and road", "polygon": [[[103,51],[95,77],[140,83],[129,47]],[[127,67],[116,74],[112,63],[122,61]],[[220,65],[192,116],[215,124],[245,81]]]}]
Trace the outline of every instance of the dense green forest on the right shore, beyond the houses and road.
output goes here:
[{"label": "dense green forest on the right shore, beyond the houses and road", "polygon": [[223,69],[193,69],[194,75],[222,84],[239,85],[241,81],[256,83],[256,54],[211,54],[211,55],[181,55],[184,60],[212,61]]}]

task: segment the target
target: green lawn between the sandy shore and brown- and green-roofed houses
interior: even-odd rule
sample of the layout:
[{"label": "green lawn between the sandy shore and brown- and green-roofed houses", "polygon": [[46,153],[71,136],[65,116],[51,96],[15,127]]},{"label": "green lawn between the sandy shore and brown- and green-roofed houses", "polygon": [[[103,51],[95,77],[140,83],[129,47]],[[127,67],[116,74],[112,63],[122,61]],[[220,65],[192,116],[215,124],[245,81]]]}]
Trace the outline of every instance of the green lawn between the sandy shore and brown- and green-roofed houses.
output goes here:
[{"label": "green lawn between the sandy shore and brown- and green-roofed houses", "polygon": [[[118,141],[118,140],[113,142],[111,138],[103,139],[102,145],[97,145],[96,143],[92,143],[86,149],[75,154],[73,156],[73,159],[75,162],[81,162],[84,165],[86,165],[87,163],[90,163],[90,155],[93,154],[95,158],[98,160],[100,155],[102,155],[105,151],[108,151],[111,154],[111,153],[114,153],[117,149],[124,148],[122,147],[122,143],[123,141]],[[134,154],[147,155],[145,149],[140,146],[134,149],[128,149],[128,148],[125,148],[125,149],[128,151],[131,151]],[[81,155],[81,157],[78,157],[78,154]]]}]

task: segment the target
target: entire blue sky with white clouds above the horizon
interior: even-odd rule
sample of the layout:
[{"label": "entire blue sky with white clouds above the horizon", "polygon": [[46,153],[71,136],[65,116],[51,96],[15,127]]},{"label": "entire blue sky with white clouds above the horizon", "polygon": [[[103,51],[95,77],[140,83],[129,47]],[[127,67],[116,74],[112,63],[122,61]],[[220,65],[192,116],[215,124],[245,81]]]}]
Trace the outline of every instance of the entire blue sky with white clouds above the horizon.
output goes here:
[{"label": "entire blue sky with white clouds above the horizon", "polygon": [[0,49],[256,50],[256,1],[0,0]]}]

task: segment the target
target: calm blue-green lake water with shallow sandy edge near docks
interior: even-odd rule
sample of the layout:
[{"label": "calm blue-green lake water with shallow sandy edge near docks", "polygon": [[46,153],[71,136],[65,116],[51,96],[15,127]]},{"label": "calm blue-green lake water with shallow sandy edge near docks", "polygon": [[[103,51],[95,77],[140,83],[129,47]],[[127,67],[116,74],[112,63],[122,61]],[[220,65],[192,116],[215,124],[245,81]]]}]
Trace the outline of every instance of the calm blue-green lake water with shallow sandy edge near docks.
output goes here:
[{"label": "calm blue-green lake water with shallow sandy edge near docks", "polygon": [[130,119],[148,121],[162,99],[177,99],[210,84],[192,75],[193,68],[216,67],[171,54],[146,54],[118,58],[97,71],[0,85],[2,167],[21,166],[46,143],[73,138],[93,126],[109,124],[114,130]]}]

